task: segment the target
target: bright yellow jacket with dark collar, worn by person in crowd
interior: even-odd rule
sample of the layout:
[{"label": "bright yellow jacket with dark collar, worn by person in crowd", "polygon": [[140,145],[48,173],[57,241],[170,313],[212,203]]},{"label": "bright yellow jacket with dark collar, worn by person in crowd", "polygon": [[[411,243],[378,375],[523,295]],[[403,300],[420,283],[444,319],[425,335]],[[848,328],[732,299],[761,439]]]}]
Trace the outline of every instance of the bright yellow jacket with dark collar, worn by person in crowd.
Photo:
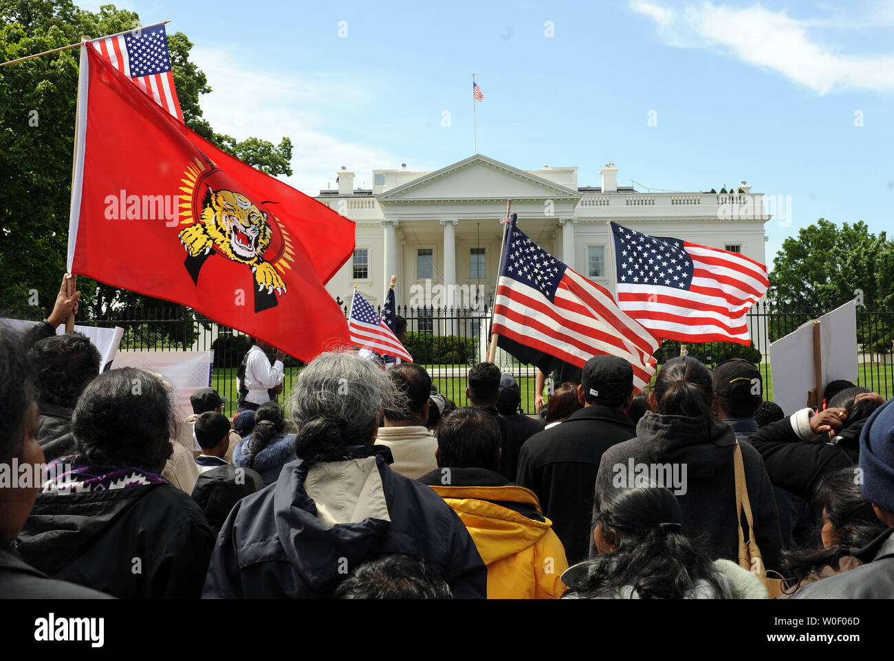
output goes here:
[{"label": "bright yellow jacket with dark collar, worn by person in crowd", "polygon": [[552,521],[536,521],[488,501],[519,504],[543,516],[533,491],[505,487],[442,487],[429,485],[460,515],[481,559],[487,565],[487,598],[550,599],[561,597],[559,577],[568,569],[565,548],[552,531]]}]

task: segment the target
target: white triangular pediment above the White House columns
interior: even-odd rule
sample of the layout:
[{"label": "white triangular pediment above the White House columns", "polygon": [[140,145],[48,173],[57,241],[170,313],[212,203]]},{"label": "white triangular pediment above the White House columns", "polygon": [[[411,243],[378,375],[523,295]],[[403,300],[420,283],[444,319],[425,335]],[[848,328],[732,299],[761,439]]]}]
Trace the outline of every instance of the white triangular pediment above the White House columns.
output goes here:
[{"label": "white triangular pediment above the White House columns", "polygon": [[376,196],[380,202],[578,198],[578,191],[480,154]]}]

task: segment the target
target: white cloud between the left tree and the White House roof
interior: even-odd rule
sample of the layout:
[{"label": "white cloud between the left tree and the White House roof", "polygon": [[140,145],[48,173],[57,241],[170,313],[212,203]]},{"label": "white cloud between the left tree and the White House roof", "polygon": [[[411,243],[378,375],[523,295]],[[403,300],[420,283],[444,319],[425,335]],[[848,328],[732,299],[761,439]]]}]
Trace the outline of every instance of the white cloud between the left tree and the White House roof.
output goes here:
[{"label": "white cloud between the left tree and the White House roof", "polygon": [[190,60],[207,75],[213,91],[199,99],[215,131],[237,140],[249,136],[279,144],[291,139],[291,177],[279,178],[316,195],[342,165],[357,173],[355,185],[372,187],[371,170],[396,167],[400,157],[372,145],[340,140],[325,129],[327,111],[360,107],[369,97],[357,81],[338,74],[301,72],[295,76],[249,70],[227,51],[194,47]]}]

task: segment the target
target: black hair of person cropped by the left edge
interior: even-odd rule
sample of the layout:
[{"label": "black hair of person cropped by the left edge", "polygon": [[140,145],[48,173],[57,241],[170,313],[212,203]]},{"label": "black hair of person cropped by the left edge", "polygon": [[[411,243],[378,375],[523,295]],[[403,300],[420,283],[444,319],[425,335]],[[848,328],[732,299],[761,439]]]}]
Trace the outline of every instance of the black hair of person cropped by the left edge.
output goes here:
[{"label": "black hair of person cropped by the left edge", "polygon": [[19,456],[24,443],[25,413],[34,403],[31,365],[21,335],[0,324],[0,460]]}]

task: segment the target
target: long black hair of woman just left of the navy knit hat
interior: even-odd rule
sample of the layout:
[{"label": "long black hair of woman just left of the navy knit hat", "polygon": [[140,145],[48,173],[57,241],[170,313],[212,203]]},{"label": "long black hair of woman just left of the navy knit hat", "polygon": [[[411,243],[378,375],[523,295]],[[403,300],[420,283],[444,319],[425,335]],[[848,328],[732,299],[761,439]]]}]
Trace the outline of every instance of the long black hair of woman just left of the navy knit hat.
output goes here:
[{"label": "long black hair of woman just left of the navy knit hat", "polygon": [[[856,466],[833,470],[822,476],[814,491],[812,504],[817,516],[816,545],[782,551],[782,567],[802,580],[812,569],[830,565],[839,571],[839,561],[850,555],[852,547],[865,547],[885,530],[873,512],[873,505],[863,495],[856,479]],[[832,547],[822,546],[822,513],[825,511],[832,531],[839,541]]]}]

